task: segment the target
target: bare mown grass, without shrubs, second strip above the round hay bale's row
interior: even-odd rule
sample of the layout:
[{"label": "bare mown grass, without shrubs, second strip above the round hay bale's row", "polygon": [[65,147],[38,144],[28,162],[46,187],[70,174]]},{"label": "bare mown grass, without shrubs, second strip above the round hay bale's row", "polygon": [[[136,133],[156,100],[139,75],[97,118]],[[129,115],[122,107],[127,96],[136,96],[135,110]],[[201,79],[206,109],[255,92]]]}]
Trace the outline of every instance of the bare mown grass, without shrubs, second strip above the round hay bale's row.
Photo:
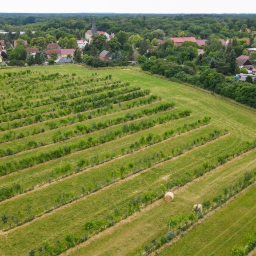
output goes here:
[{"label": "bare mown grass, without shrubs, second strip above the round hay bale's row", "polygon": [[[118,179],[119,175],[117,174],[115,178],[115,176],[111,176],[111,171],[119,171],[121,166],[125,167],[125,172],[127,172],[126,175],[131,175],[133,173],[133,169],[127,166],[128,162],[136,163],[139,161],[139,159],[141,159],[142,164],[139,166],[146,169],[146,163],[143,165],[145,158],[150,157],[154,153],[159,153],[159,151],[162,151],[163,154],[171,155],[172,147],[179,147],[183,145],[184,140],[190,142],[193,141],[193,138],[205,136],[209,134],[211,130],[213,130],[213,127],[202,127],[201,129],[191,133],[174,137],[173,139],[164,143],[162,142],[152,147],[148,147],[147,150],[144,150],[145,152],[143,152],[143,155],[141,154],[141,151],[135,151],[133,154],[129,154],[125,158],[115,159],[115,161],[107,162],[105,165],[96,166],[91,170],[88,169],[88,171],[85,171],[84,173],[79,173],[73,177],[70,176],[69,178],[65,179],[65,181],[54,183],[51,186],[32,191],[28,194],[22,194],[22,197],[18,197],[17,199],[13,198],[13,200],[8,202],[3,201],[0,204],[0,215],[3,213],[7,213],[8,215],[13,215],[15,217],[19,217],[19,215],[21,215],[22,219],[29,218],[29,216],[33,214],[41,215],[45,211],[45,205],[49,207],[55,206],[55,199],[59,194],[72,193],[74,195],[81,195],[82,186],[85,187],[85,191],[89,190],[89,181],[92,182],[95,187],[95,183],[97,182],[99,182],[99,186],[102,186],[104,183],[109,183],[107,182],[108,180],[110,181],[111,179]],[[163,147],[163,144],[165,147]],[[153,160],[151,162],[153,165]],[[25,210],[27,205],[30,206],[29,211]]]}]

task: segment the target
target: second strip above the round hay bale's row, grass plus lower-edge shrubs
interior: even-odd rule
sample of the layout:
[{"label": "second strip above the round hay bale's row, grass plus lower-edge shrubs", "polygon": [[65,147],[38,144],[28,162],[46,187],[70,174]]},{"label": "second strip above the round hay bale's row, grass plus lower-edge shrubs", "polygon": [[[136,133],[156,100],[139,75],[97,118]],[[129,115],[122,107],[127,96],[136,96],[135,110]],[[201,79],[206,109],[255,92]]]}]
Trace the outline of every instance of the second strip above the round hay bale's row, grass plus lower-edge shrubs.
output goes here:
[{"label": "second strip above the round hay bale's row, grass plus lower-edge shrubs", "polygon": [[[202,129],[205,130],[204,133],[202,132]],[[210,129],[210,127],[203,127],[202,129],[196,131],[194,130],[193,133],[183,134],[180,137],[174,137],[170,141],[165,142],[165,147],[167,147],[168,145],[172,145],[173,148],[178,149],[183,145],[183,139],[186,138],[187,141],[193,141],[193,138],[195,138],[197,134],[206,136],[207,134],[209,134],[209,131],[212,130]],[[212,139],[209,139],[209,141],[211,140]],[[202,142],[202,144],[205,144],[206,142],[207,141]],[[159,162],[167,161],[169,159],[169,157],[167,156],[172,154],[172,150],[168,147],[161,150],[161,144],[162,143],[159,143],[158,145],[150,147],[146,151],[144,159],[149,159],[151,161],[150,166],[154,166]],[[199,142],[199,145],[201,145],[201,142]],[[199,145],[194,145],[194,147],[198,147]],[[186,149],[184,150],[186,151]],[[161,154],[159,153],[159,151],[161,151]],[[155,155],[155,159],[150,159],[151,155]],[[127,166],[127,161],[134,161],[134,166]],[[123,166],[125,168],[126,171],[123,174],[119,172],[119,166]],[[19,197],[17,199],[14,198],[12,201],[3,201],[0,205],[0,213],[2,213],[2,211],[6,211],[6,213],[8,212],[9,215],[15,215],[17,211],[22,213],[22,209],[26,209],[27,202],[29,201],[30,210],[27,211],[27,213],[23,212],[23,215],[28,214],[23,218],[28,218],[34,214],[42,214],[44,211],[47,211],[47,209],[50,209],[50,207],[53,207],[54,205],[56,206],[55,198],[57,197],[57,195],[60,195],[61,191],[65,193],[63,194],[63,198],[61,196],[61,202],[68,202],[71,199],[74,200],[74,198],[76,197],[75,195],[81,195],[82,186],[84,186],[85,188],[83,194],[87,194],[90,193],[90,191],[101,189],[102,186],[109,185],[110,183],[117,181],[117,179],[119,178],[125,178],[127,177],[127,175],[137,173],[139,171],[142,171],[143,169],[147,169],[150,166],[149,162],[144,162],[143,159],[141,159],[140,152],[135,151],[133,154],[127,155],[127,157],[125,158],[117,159],[116,161],[106,163],[103,166],[97,166],[92,171],[79,173],[79,175],[77,176],[69,177],[62,182],[54,183],[53,185],[45,187],[44,189],[32,191],[29,194],[23,194],[23,197]],[[75,186],[73,186],[74,184]],[[46,194],[48,195],[46,196]],[[15,203],[16,201],[18,202],[18,205],[17,203]],[[62,204],[61,202],[59,202],[59,204]],[[46,207],[47,209],[45,209],[45,205],[48,206]],[[20,210],[18,210],[18,208]]]}]

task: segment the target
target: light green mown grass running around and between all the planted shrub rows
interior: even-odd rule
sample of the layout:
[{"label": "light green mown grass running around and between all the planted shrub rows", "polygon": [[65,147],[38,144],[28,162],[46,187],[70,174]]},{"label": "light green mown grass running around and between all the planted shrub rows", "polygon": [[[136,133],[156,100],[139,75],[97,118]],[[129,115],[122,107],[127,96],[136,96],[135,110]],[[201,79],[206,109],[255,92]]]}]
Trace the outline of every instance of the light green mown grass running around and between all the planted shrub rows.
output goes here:
[{"label": "light green mown grass running around and between all the planted shrub rows", "polygon": [[[191,181],[179,189],[177,187],[171,189],[175,193],[175,200],[172,203],[166,203],[163,199],[158,199],[153,205],[149,205],[141,211],[135,211],[135,213],[131,213],[128,219],[125,219],[132,198],[142,198],[145,192],[159,194],[162,191],[161,187],[165,187],[168,182],[177,180],[186,174],[191,174],[192,177],[195,169],[202,167],[204,163],[215,165],[218,163],[219,157],[225,156],[225,154],[232,155],[244,147],[246,142],[253,142],[256,138],[255,110],[227,101],[222,97],[216,97],[198,88],[170,82],[167,79],[154,77],[137,70],[88,70],[82,66],[68,65],[10,69],[10,72],[19,72],[26,69],[31,70],[31,77],[39,73],[53,74],[58,72],[61,75],[69,74],[69,77],[66,78],[69,79],[71,74],[75,73],[74,81],[77,81],[78,77],[81,81],[89,79],[92,74],[94,74],[94,78],[105,78],[111,74],[113,81],[129,82],[131,87],[140,87],[141,90],[150,89],[151,94],[162,99],[161,102],[175,103],[175,109],[173,110],[134,119],[127,122],[127,124],[139,122],[141,119],[157,119],[167,114],[179,113],[182,110],[191,110],[191,114],[189,117],[166,123],[157,123],[149,129],[125,134],[113,141],[89,149],[74,151],[61,158],[0,177],[0,189],[18,183],[22,190],[31,190],[0,202],[0,215],[7,214],[8,217],[6,223],[0,222],[0,225],[7,230],[10,229],[5,232],[0,231],[0,255],[27,256],[29,251],[33,249],[37,256],[40,255],[38,248],[45,246],[46,243],[53,249],[57,246],[64,248],[67,246],[65,241],[67,235],[79,238],[89,234],[85,230],[86,221],[98,220],[98,222],[103,223],[113,216],[117,222],[114,227],[108,227],[99,235],[95,235],[95,232],[97,233],[99,230],[94,227],[89,234],[91,236],[89,241],[67,250],[65,255],[139,255],[139,250],[143,251],[146,243],[150,243],[153,238],[159,239],[162,234],[168,231],[167,222],[172,215],[190,213],[194,203],[202,203],[205,199],[212,201],[214,197],[223,194],[225,187],[233,186],[239,179],[243,179],[247,171],[256,170],[255,149],[239,156],[234,155],[231,161],[219,165],[202,178],[195,179],[195,181]],[[0,74],[5,72],[6,69],[0,70]],[[48,98],[49,94],[47,93],[51,90],[53,90],[53,95],[57,93],[54,88],[64,80],[65,78],[61,81],[48,83],[49,91],[47,92],[43,92],[43,85],[38,83],[38,91],[34,93]],[[47,81],[45,82],[47,83]],[[104,83],[104,81],[99,81],[99,83]],[[11,92],[15,88],[7,87],[5,89],[2,83],[0,89],[3,92],[5,91],[5,101],[8,101],[8,94],[10,94],[10,99],[13,97],[12,94],[18,95],[18,93]],[[68,90],[66,89],[66,91]],[[21,91],[21,95],[23,95],[22,93],[23,91]],[[136,99],[133,101],[136,101]],[[137,113],[148,107],[157,106],[161,102],[153,102],[149,105],[141,105],[123,111],[119,111],[120,106],[115,105],[109,114],[99,115],[79,123],[90,126],[93,125],[93,122],[109,122],[110,119],[123,117],[126,113]],[[128,103],[122,102],[121,108]],[[51,107],[46,105],[36,109],[49,111]],[[35,110],[29,109],[30,112]],[[92,110],[86,112],[90,113],[90,111]],[[71,114],[71,116],[74,116],[74,114]],[[155,138],[161,137],[166,130],[174,129],[175,131],[178,127],[185,124],[189,125],[189,123],[198,119],[202,120],[203,117],[211,117],[209,125],[198,127],[187,133],[174,133],[171,138],[153,143],[150,146],[143,145],[138,150],[131,147],[142,136],[146,138],[150,133],[153,133]],[[66,117],[59,117],[52,121],[58,123],[61,118]],[[78,133],[65,141],[53,143],[54,133],[57,131],[65,133],[70,129],[75,130],[77,123],[67,123],[66,126],[50,130],[47,128],[46,122],[38,122],[30,126],[13,129],[15,133],[22,132],[24,134],[31,134],[31,129],[45,129],[46,131],[2,143],[0,145],[2,150],[10,147],[13,150],[19,149],[20,152],[0,158],[0,165],[5,165],[9,161],[18,162],[42,151],[47,152],[59,146],[63,147],[71,143],[77,143],[80,139],[99,138],[108,131],[114,132],[126,124],[120,123],[89,134]],[[227,130],[227,134],[201,146],[197,145],[189,150],[184,150],[178,157],[167,158],[172,155],[173,149],[186,149],[186,146],[190,145],[195,139],[207,137],[216,130]],[[3,135],[7,132],[0,132],[0,138],[3,138]],[[23,150],[30,139],[50,144],[35,149]],[[96,164],[92,162],[92,159],[95,158],[97,158]],[[162,158],[165,158],[165,161],[161,162]],[[87,164],[82,166],[82,170],[75,171],[81,159],[86,159]],[[58,168],[67,164],[70,165],[70,170],[67,173],[58,171]],[[121,167],[124,167],[124,169],[122,170]],[[123,173],[121,173],[121,170]],[[95,192],[94,190],[98,191]],[[255,186],[239,195],[234,203],[241,200],[239,198],[246,197],[246,195],[248,195],[248,198],[252,198],[253,193],[255,194]],[[75,196],[77,196],[77,200],[73,201]],[[60,199],[65,199],[63,205],[59,203]],[[69,200],[73,202],[69,202]],[[247,203],[249,203],[249,200],[246,199],[245,207],[247,207]],[[213,255],[228,255],[227,253],[229,253],[231,247],[239,243],[239,239],[232,238],[225,241],[224,238],[231,237],[235,228],[241,230],[241,234],[246,234],[250,226],[247,224],[250,221],[249,216],[251,213],[255,214],[255,209],[252,209],[250,214],[244,214],[244,217],[241,217],[241,223],[237,222],[237,224],[231,226],[228,220],[234,212],[234,207],[230,203],[230,206],[226,205],[222,210],[216,211],[200,225],[187,232],[177,243],[167,247],[167,254],[164,254],[165,251],[162,251],[161,254],[170,255],[169,250],[174,252],[180,250],[183,253],[180,255],[189,255],[187,250],[190,245],[191,251],[199,246],[205,251],[213,252]],[[242,214],[242,208],[239,213]],[[31,221],[32,217],[35,218],[33,221]],[[214,218],[223,223],[223,235],[219,235],[219,237],[217,228],[211,227],[213,222],[210,222],[210,220],[214,220]],[[19,221],[22,223],[16,227],[14,223]],[[245,227],[244,230],[243,226]],[[214,235],[211,235],[209,230],[216,234],[217,239],[213,239]],[[198,235],[197,241],[193,241],[193,235]],[[42,255],[50,255],[50,253],[49,251],[43,251]],[[179,254],[174,253],[174,255]],[[194,254],[191,253],[190,255]]]}]

